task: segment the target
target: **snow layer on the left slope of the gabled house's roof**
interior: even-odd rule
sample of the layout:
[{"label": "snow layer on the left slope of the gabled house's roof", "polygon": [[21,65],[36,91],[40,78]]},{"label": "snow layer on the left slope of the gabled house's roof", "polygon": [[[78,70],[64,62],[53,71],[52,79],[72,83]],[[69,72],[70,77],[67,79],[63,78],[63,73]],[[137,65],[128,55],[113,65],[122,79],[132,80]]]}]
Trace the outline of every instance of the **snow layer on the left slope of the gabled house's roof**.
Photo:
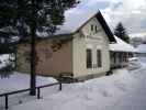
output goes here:
[{"label": "snow layer on the left slope of the gabled house's roof", "polygon": [[[65,12],[65,22],[61,25],[58,25],[58,30],[54,33],[54,35],[61,35],[61,34],[70,34],[76,32],[82,24],[85,24],[89,19],[98,13],[98,11],[81,11],[75,12],[76,8],[70,9]],[[48,36],[47,32],[40,33],[37,32],[38,36]]]}]

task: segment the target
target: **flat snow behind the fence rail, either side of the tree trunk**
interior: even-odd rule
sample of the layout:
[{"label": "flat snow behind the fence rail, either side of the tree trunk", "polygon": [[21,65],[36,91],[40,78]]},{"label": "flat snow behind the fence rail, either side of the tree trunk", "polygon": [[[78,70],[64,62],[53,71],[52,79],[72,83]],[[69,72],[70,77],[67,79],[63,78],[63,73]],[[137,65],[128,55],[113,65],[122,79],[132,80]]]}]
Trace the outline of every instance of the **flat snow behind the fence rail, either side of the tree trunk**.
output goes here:
[{"label": "flat snow behind the fence rail, either side of the tree trunk", "polygon": [[[42,77],[42,76],[36,77],[37,86],[52,84],[56,81],[57,80],[50,77]],[[19,89],[26,89],[29,87],[30,87],[30,75],[27,74],[20,74],[15,72],[13,75],[10,76],[10,78],[0,79],[0,94]]]}]

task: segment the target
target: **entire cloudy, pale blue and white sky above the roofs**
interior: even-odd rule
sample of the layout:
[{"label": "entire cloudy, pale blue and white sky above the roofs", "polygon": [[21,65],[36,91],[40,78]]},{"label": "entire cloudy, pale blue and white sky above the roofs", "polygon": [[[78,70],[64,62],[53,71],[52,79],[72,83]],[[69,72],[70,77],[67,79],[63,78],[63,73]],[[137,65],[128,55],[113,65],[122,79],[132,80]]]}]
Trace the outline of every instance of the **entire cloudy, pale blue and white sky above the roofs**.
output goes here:
[{"label": "entire cloudy, pale blue and white sky above the roofs", "polygon": [[75,12],[100,9],[113,30],[122,22],[130,34],[146,32],[146,0],[80,0]]}]

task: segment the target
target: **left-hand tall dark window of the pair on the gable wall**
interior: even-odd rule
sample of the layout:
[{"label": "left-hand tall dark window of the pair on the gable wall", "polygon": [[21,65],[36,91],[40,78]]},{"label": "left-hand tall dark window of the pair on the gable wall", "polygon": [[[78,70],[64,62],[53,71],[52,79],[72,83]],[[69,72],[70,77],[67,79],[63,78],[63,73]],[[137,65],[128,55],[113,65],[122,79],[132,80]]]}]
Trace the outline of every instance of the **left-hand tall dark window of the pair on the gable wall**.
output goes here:
[{"label": "left-hand tall dark window of the pair on the gable wall", "polygon": [[87,50],[87,68],[92,68],[92,51]]}]

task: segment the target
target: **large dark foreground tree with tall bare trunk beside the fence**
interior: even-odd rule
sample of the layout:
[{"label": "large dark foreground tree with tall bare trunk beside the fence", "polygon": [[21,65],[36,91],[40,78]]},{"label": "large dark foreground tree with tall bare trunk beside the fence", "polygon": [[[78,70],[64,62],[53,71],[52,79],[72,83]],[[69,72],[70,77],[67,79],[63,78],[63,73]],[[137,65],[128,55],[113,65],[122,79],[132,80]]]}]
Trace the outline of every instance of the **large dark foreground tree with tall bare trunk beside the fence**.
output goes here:
[{"label": "large dark foreground tree with tall bare trunk beside the fence", "polygon": [[76,0],[0,0],[0,29],[24,37],[31,36],[31,95],[35,95],[36,32],[53,34],[64,22],[65,10],[75,7]]}]

